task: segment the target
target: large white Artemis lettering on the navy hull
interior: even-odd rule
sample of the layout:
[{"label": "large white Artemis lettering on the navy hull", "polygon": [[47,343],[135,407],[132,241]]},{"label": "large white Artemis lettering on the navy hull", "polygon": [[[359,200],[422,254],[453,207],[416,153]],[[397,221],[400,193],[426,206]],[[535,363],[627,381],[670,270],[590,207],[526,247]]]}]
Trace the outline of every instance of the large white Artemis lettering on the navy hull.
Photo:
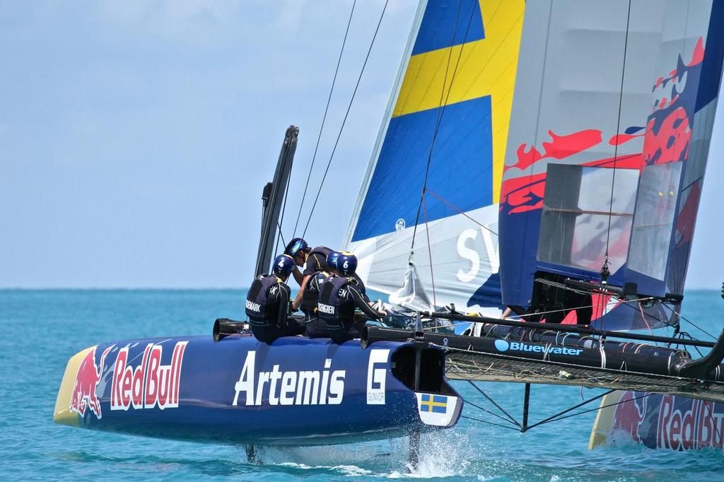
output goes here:
[{"label": "large white Artemis lettering on the navy hull", "polygon": [[[345,394],[345,370],[334,370],[332,359],[324,360],[324,370],[256,372],[256,351],[246,354],[232,405],[339,405]],[[241,395],[241,397],[240,397]]]}]

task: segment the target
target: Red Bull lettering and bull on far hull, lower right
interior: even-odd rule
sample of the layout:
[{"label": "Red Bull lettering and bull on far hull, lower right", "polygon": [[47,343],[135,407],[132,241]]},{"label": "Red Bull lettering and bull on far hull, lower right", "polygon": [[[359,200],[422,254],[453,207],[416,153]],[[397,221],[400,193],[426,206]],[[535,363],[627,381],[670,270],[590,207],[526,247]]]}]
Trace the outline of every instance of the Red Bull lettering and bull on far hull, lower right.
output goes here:
[{"label": "Red Bull lettering and bull on far hull, lower right", "polygon": [[696,450],[724,447],[724,404],[674,395],[626,392],[613,415],[612,432],[649,448]]}]

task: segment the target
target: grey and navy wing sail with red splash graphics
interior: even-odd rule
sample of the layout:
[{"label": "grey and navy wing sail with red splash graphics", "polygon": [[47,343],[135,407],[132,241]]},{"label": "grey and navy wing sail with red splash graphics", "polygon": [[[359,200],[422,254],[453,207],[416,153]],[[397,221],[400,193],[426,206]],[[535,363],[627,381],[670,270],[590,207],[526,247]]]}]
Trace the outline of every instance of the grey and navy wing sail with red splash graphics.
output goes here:
[{"label": "grey and navy wing sail with red splash graphics", "polygon": [[[526,7],[500,194],[506,305],[589,303],[593,324],[675,321],[712,133],[724,4]],[[565,278],[664,303],[566,298]],[[604,299],[605,298],[605,299]],[[580,312],[578,313],[581,314]]]}]

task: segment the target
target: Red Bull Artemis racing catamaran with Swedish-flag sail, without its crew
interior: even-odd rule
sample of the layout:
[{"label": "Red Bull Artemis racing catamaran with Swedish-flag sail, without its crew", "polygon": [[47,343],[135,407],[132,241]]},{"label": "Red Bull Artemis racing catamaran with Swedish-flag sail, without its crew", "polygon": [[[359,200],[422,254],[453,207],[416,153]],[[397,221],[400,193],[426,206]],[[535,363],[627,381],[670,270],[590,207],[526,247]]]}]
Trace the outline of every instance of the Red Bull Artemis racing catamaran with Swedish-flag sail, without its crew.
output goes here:
[{"label": "Red Bull Artemis racing catamaran with Swedish-flag sail, without its crew", "polygon": [[[455,426],[463,399],[448,379],[724,401],[724,338],[695,342],[712,348],[695,360],[614,341],[678,323],[723,12],[706,1],[421,1],[345,239],[366,284],[412,310],[405,328],[269,345],[219,319],[212,336],[101,343],[69,360],[54,420],[297,446]],[[258,273],[298,132],[287,130],[264,188]],[[504,308],[519,318],[499,318]]]}]

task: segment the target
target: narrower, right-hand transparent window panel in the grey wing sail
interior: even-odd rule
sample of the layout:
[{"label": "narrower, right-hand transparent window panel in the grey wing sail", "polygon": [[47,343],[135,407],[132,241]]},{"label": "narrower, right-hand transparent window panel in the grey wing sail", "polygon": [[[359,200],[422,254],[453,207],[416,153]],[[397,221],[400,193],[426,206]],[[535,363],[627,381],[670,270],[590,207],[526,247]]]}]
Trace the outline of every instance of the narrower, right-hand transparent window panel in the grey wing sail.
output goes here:
[{"label": "narrower, right-hand transparent window panel in the grey wing sail", "polygon": [[681,162],[644,167],[636,199],[628,269],[663,280],[673,230]]}]

